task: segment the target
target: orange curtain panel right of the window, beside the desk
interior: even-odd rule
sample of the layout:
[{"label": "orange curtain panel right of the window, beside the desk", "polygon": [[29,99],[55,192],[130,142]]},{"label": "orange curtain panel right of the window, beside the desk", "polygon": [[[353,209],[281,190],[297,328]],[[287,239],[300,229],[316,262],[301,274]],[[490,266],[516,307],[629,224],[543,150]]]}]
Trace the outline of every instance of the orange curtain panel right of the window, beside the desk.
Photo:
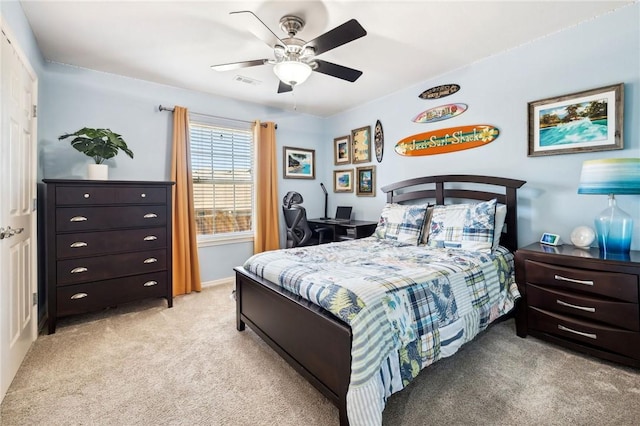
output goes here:
[{"label": "orange curtain panel right of the window, beside the desk", "polygon": [[256,230],[253,252],[280,248],[276,125],[256,121]]}]

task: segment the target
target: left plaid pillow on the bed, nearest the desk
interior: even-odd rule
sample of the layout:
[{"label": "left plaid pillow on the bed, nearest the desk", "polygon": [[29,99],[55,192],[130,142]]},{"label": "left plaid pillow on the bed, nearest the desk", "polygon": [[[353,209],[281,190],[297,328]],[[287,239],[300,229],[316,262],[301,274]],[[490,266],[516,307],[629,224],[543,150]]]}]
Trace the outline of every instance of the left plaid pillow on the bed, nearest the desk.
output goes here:
[{"label": "left plaid pillow on the bed, nearest the desk", "polygon": [[380,239],[418,245],[424,228],[427,204],[387,203],[380,213],[374,235]]}]

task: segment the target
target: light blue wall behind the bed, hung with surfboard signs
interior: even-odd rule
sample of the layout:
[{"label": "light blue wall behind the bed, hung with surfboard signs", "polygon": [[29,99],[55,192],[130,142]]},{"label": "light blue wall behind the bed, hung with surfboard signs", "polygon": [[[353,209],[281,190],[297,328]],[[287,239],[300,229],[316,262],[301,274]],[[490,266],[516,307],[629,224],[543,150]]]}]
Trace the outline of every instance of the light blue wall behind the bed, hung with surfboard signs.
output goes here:
[{"label": "light blue wall behind the bed, hung with surfboard signs", "polygon": [[[328,120],[332,138],[380,119],[385,151],[377,169],[377,186],[432,174],[487,174],[526,180],[519,191],[519,244],[553,232],[569,242],[578,225],[593,227],[593,218],[607,207],[607,197],[578,195],[582,162],[597,158],[640,157],[640,5],[635,3],[511,51],[378,99]],[[583,90],[625,84],[624,150],[527,157],[527,103]],[[418,94],[441,84],[461,90],[439,100]],[[469,110],[453,119],[416,124],[411,119],[431,107],[460,102]],[[402,157],[393,151],[400,139],[416,133],[466,124],[491,124],[500,129],[494,142],[480,148],[423,157]],[[332,153],[327,152],[330,159]],[[360,165],[360,164],[358,164]],[[342,167],[341,167],[342,168]],[[327,177],[328,179],[328,177]],[[617,196],[618,205],[636,218],[632,248],[640,249],[640,196]],[[335,194],[336,204],[353,204],[357,218],[376,219],[384,194],[356,197]]]}]

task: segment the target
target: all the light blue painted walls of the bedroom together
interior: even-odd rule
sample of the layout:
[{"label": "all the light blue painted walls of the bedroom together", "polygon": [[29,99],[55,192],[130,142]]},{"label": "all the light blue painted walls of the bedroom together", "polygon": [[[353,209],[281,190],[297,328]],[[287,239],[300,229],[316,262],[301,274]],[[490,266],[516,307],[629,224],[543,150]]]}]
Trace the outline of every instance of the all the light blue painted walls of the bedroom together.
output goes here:
[{"label": "all the light blue painted walls of the bedroom together", "polygon": [[[169,177],[171,114],[159,112],[159,104],[182,105],[195,112],[242,120],[278,123],[278,168],[282,147],[316,150],[315,180],[283,179],[279,192],[295,190],[305,197],[310,216],[320,216],[323,194],[319,183],[331,189],[333,138],[351,129],[382,121],[385,154],[375,160],[377,187],[431,174],[477,173],[526,180],[520,191],[520,244],[538,239],[543,231],[568,241],[577,225],[592,225],[606,207],[604,196],[577,195],[584,160],[640,156],[640,5],[605,15],[569,30],[477,62],[440,78],[393,93],[362,107],[330,118],[319,118],[266,108],[155,83],[114,76],[59,64],[44,63],[33,34],[17,2],[0,2],[3,20],[9,24],[40,77],[38,123],[40,177],[85,176],[88,158],[57,140],[65,132],[83,126],[109,127],[125,136],[135,153],[111,161],[112,179],[165,180]],[[600,153],[527,157],[527,102],[625,83],[625,149]],[[442,103],[463,102],[469,111],[440,125],[419,125],[416,114],[439,105],[417,95],[445,83],[460,84],[459,93]],[[428,157],[400,157],[395,143],[405,136],[462,124],[493,124],[500,137],[489,145],[457,153]],[[342,167],[340,167],[342,168]],[[619,205],[640,218],[638,196],[619,196]],[[330,192],[329,212],[339,204],[354,206],[356,219],[376,220],[384,196],[356,197]],[[635,249],[640,249],[640,220],[634,227]],[[200,249],[205,281],[231,276],[234,266],[252,253],[250,243]]]}]

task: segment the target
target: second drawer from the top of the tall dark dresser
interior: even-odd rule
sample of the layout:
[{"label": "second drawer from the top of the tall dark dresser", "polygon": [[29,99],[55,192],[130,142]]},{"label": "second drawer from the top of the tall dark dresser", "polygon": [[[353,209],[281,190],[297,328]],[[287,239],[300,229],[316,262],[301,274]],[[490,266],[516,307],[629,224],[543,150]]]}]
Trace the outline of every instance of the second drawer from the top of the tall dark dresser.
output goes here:
[{"label": "second drawer from the top of the tall dark dresser", "polygon": [[61,207],[57,209],[56,214],[56,230],[58,232],[153,227],[166,223],[167,208],[162,205]]}]

